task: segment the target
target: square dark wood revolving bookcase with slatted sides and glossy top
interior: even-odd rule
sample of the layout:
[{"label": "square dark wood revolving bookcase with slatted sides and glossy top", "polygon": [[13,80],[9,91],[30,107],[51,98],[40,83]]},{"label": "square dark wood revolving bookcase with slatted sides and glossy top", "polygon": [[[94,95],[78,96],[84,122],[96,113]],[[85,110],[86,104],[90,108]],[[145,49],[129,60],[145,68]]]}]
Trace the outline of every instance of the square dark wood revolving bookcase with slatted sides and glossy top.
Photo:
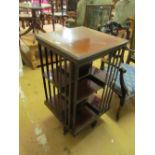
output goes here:
[{"label": "square dark wood revolving bookcase with slatted sides and glossy top", "polygon": [[[45,105],[62,122],[64,133],[70,131],[76,135],[89,125],[95,126],[97,119],[110,108],[120,57],[128,41],[86,27],[37,34],[36,39]],[[106,54],[113,66],[109,65],[104,74],[92,61]],[[102,90],[100,97],[98,90]]]}]

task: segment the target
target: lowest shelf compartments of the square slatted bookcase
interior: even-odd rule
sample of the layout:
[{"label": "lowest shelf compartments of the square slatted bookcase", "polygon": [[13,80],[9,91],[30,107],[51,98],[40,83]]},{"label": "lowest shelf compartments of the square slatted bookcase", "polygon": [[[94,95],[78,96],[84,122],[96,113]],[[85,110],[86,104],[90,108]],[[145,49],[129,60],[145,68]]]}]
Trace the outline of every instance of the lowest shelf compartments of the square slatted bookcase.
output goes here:
[{"label": "lowest shelf compartments of the square slatted bookcase", "polygon": [[[63,123],[63,125],[66,125],[66,123],[68,124],[68,121],[72,124],[73,113],[70,111],[71,113],[69,119],[69,110],[66,106],[67,101],[65,101],[62,96],[58,95],[55,96],[55,98],[53,97],[51,100],[45,101],[45,105],[57,117],[57,119]],[[89,96],[88,99],[81,102],[81,104],[78,104],[76,108],[75,126],[73,127],[73,125],[71,125],[69,130],[73,129],[72,132],[76,135],[81,130],[94,123],[98,116],[101,115],[100,105],[101,100],[95,94]],[[103,110],[102,114],[104,112],[106,112],[106,110]]]}]

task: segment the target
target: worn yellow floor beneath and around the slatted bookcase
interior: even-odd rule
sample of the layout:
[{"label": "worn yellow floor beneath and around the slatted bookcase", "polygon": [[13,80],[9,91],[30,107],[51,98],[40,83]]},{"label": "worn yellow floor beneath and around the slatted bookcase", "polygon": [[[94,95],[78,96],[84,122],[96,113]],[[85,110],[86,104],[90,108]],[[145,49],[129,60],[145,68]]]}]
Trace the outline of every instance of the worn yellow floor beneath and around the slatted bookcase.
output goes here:
[{"label": "worn yellow floor beneath and around the slatted bookcase", "polygon": [[[100,61],[94,62],[99,66]],[[118,122],[114,114],[118,97],[96,128],[86,128],[73,137],[63,135],[62,124],[44,105],[41,70],[24,67],[20,77],[20,155],[134,155],[134,102],[126,102]]]}]

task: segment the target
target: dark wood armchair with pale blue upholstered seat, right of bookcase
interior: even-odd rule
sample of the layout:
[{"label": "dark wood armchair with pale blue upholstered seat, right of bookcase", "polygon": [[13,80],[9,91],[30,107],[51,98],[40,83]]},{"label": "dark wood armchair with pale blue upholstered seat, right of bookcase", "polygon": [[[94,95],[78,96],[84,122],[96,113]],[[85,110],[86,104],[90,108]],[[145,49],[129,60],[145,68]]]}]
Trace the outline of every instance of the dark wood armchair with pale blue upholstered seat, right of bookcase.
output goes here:
[{"label": "dark wood armchair with pale blue upholstered seat, right of bookcase", "polygon": [[[130,53],[128,63],[135,63],[135,60],[131,58],[131,56],[134,55],[134,50],[127,49],[127,51]],[[125,104],[125,100],[135,96],[135,67],[128,63],[121,64],[120,73],[114,86],[114,91],[120,98],[120,106],[116,114],[116,120],[120,117],[120,112]]]}]

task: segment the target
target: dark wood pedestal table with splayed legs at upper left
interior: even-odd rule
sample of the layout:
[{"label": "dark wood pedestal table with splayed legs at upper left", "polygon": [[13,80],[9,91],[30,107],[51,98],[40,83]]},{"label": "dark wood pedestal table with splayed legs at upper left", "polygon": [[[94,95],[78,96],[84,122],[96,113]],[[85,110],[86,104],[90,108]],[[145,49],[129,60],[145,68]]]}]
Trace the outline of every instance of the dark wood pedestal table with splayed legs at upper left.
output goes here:
[{"label": "dark wood pedestal table with splayed legs at upper left", "polygon": [[40,20],[38,20],[36,13],[39,10],[42,10],[45,8],[51,8],[50,4],[30,4],[30,5],[28,5],[28,4],[20,3],[19,8],[32,10],[32,21],[29,24],[29,28],[24,33],[20,34],[20,36],[29,33],[31,30],[33,30],[33,32],[34,32],[35,29],[45,32],[45,30],[42,28],[42,26],[40,24]]}]

